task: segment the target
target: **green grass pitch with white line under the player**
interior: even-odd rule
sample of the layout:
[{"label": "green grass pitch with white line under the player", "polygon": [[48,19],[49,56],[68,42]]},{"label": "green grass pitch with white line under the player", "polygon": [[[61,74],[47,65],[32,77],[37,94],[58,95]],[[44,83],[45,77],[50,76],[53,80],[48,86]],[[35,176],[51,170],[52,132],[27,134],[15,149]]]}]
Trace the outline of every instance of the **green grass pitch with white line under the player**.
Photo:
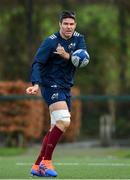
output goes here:
[{"label": "green grass pitch with white line under the player", "polygon": [[[45,179],[30,176],[39,147],[21,155],[0,150],[0,179]],[[10,152],[10,153],[9,153]],[[56,179],[130,179],[128,148],[86,148],[59,145],[55,151]]]}]

